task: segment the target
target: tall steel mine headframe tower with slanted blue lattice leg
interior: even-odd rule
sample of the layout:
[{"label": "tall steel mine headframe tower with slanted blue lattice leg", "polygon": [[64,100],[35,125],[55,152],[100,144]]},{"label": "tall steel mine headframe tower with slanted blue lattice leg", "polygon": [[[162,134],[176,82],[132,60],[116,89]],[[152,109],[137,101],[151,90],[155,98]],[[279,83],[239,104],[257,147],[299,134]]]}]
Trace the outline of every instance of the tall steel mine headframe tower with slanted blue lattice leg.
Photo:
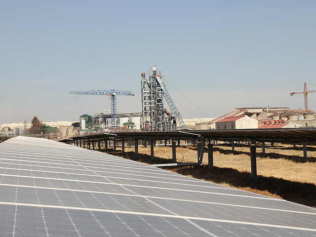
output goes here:
[{"label": "tall steel mine headframe tower with slanted blue lattice leg", "polygon": [[[152,67],[152,75],[142,73],[142,126],[149,131],[187,129],[164,83],[163,76]],[[170,107],[171,115],[163,107],[163,98]]]}]

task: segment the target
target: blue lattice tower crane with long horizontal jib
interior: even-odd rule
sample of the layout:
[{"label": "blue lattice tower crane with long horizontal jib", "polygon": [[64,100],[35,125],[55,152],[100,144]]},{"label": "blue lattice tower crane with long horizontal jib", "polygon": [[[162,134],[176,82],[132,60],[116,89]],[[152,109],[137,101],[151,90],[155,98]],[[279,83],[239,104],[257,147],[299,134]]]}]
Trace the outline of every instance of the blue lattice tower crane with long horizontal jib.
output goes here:
[{"label": "blue lattice tower crane with long horizontal jib", "polygon": [[132,95],[130,90],[87,90],[87,91],[70,91],[70,94],[83,94],[83,95],[107,95],[111,96],[111,126],[116,125],[117,118],[117,95]]}]

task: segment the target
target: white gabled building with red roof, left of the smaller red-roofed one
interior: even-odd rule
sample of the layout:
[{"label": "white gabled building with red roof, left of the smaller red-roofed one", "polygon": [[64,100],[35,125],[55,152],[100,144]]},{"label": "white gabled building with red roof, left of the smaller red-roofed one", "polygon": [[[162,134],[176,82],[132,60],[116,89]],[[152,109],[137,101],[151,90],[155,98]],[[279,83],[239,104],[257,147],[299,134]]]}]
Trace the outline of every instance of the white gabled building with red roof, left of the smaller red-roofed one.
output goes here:
[{"label": "white gabled building with red roof, left of the smaller red-roofed one", "polygon": [[249,129],[258,128],[258,120],[246,115],[227,117],[215,123],[216,129]]}]

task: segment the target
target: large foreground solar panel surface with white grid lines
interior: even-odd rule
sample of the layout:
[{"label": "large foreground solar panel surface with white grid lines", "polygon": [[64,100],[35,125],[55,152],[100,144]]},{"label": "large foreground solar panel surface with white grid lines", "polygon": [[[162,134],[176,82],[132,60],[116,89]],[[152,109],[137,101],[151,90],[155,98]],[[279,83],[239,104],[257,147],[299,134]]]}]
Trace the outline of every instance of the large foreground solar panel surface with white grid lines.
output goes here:
[{"label": "large foreground solar panel surface with white grid lines", "polygon": [[0,236],[316,236],[315,208],[41,138],[0,144]]}]

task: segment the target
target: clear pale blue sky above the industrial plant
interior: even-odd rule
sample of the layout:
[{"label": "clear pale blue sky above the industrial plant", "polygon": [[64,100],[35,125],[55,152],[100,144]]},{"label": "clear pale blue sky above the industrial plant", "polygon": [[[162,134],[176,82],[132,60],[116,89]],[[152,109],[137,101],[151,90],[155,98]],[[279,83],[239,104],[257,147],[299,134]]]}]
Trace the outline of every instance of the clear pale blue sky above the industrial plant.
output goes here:
[{"label": "clear pale blue sky above the industrial plant", "polygon": [[[157,65],[183,118],[234,107],[304,108],[290,97],[316,83],[315,0],[0,0],[0,123],[141,112],[140,73]],[[309,89],[316,89],[310,86]],[[309,107],[316,110],[316,93]]]}]

